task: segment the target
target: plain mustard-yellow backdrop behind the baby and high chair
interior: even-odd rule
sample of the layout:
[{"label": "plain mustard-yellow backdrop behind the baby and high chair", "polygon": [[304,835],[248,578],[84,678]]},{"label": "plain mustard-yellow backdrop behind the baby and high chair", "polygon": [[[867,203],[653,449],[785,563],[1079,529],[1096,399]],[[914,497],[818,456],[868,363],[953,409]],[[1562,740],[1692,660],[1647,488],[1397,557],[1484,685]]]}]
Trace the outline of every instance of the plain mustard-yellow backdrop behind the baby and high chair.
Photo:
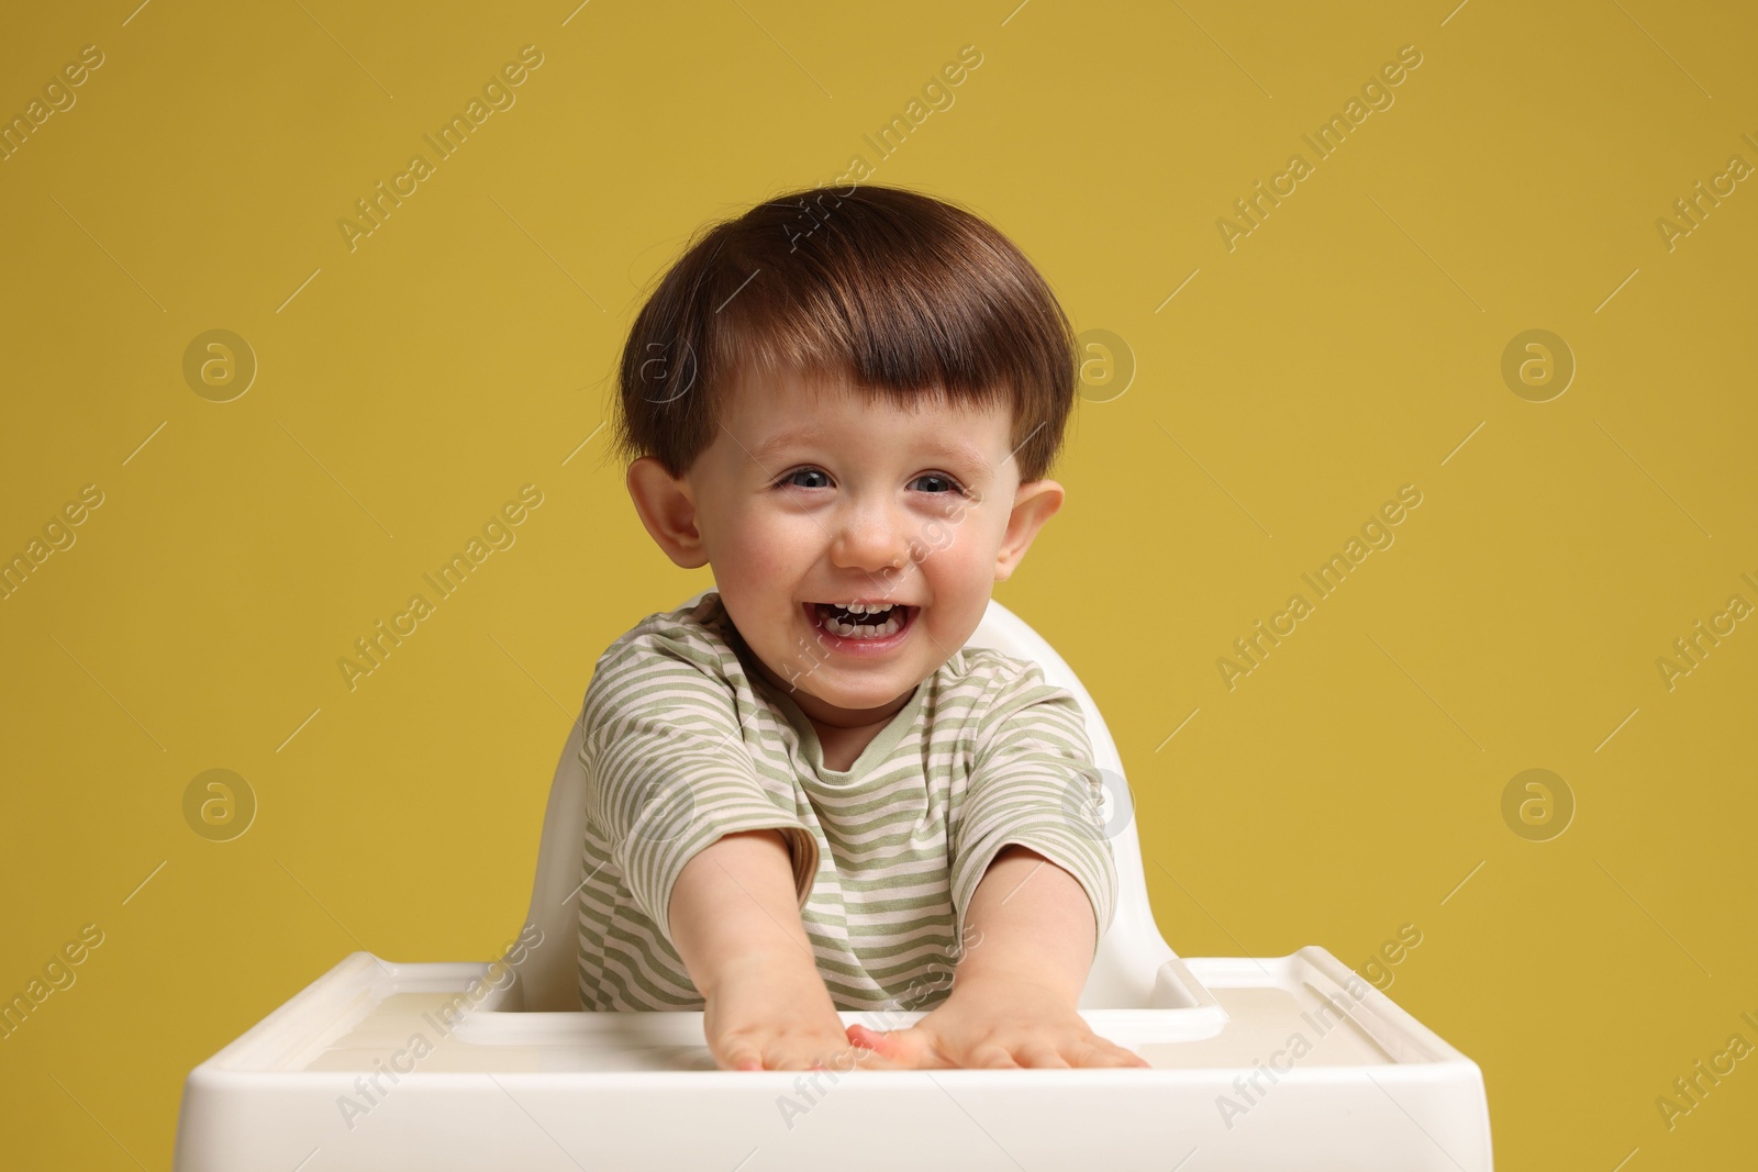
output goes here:
[{"label": "plain mustard-yellow backdrop behind the baby and high chair", "polygon": [[[1749,9],[571,9],[7,21],[5,118],[105,63],[0,163],[0,552],[105,503],[0,603],[0,993],[105,940],[0,1042],[5,1163],[169,1167],[186,1072],[343,954],[508,944],[594,659],[710,583],[599,460],[640,292],[705,220],[874,162],[965,44],[872,181],[990,218],[1137,364],[997,597],[1109,720],[1162,933],[1359,968],[1415,924],[1389,993],[1482,1065],[1498,1167],[1749,1161],[1758,1060],[1672,1130],[1654,1105],[1758,1042],[1758,622],[1656,668],[1758,603],[1758,181],[1656,228],[1758,163]],[[517,105],[350,251],[353,200],[526,44]],[[1406,44],[1396,104],[1313,160]],[[1229,251],[1294,151],[1315,174]],[[232,402],[183,378],[209,329],[260,364]],[[1579,364],[1549,402],[1501,380],[1528,329]],[[350,692],[336,659],[526,483],[517,545]],[[1229,691],[1234,638],[1406,483],[1396,545]],[[260,801],[234,842],[183,821],[211,768]],[[1577,803],[1549,842],[1501,817],[1528,768]]]}]

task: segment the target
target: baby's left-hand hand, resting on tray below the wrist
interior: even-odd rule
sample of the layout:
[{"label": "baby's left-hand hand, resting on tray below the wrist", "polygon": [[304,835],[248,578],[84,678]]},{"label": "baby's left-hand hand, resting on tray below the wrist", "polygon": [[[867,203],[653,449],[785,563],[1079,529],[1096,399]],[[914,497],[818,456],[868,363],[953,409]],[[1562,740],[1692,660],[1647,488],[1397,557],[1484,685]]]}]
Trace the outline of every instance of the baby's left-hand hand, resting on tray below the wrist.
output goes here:
[{"label": "baby's left-hand hand, resting on tray below the wrist", "polygon": [[708,1053],[721,1070],[898,1070],[851,1044],[823,977],[810,966],[752,965],[726,973],[703,1010]]}]

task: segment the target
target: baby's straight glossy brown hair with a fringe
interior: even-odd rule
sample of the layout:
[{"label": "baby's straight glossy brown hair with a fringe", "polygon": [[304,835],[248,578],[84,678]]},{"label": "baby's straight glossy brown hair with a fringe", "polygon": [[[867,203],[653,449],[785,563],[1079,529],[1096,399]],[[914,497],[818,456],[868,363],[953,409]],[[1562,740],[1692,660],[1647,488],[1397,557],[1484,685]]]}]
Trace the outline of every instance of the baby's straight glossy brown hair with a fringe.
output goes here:
[{"label": "baby's straight glossy brown hair with a fringe", "polygon": [[1074,330],[1013,241],[891,186],[805,188],[698,228],[629,329],[608,455],[682,476],[740,376],[800,371],[909,409],[1013,409],[1020,481],[1044,478],[1074,406]]}]

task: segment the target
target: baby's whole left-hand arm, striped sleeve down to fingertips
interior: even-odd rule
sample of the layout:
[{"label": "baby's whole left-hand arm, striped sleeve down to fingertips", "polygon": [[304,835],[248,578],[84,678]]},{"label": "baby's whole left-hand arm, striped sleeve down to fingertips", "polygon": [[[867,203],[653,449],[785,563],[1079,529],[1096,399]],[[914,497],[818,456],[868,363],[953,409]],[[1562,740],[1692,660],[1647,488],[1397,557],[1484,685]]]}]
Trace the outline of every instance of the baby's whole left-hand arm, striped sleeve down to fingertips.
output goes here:
[{"label": "baby's whole left-hand arm, striped sleeve down to fingertips", "polygon": [[649,624],[599,657],[580,738],[592,833],[701,995],[716,1065],[883,1065],[847,1054],[800,919],[817,843],[758,775],[716,662],[689,624]]}]

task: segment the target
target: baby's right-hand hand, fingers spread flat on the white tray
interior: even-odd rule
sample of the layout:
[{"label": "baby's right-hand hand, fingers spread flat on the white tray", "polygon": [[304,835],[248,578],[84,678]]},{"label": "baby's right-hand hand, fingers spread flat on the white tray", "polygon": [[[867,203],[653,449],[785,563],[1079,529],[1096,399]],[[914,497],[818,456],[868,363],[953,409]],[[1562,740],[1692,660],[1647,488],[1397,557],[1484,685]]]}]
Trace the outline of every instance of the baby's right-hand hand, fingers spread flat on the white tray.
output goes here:
[{"label": "baby's right-hand hand, fingers spread flat on the white tray", "polygon": [[1025,980],[958,980],[907,1030],[854,1024],[849,1042],[905,1068],[937,1067],[1148,1067],[1086,1024],[1062,996]]}]

